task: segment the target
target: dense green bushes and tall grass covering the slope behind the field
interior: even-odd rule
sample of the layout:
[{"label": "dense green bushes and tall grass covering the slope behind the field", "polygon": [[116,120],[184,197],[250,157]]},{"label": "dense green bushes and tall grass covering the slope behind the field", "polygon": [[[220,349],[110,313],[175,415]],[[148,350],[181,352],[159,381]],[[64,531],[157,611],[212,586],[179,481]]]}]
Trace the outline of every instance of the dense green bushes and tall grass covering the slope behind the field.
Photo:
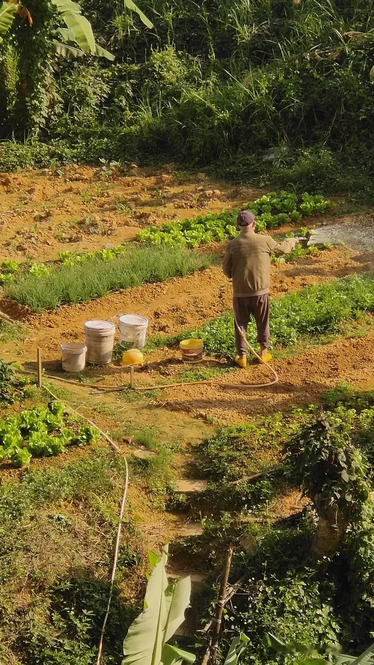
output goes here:
[{"label": "dense green bushes and tall grass covering the slope behind the field", "polygon": [[[13,147],[3,146],[0,168],[47,162],[51,154],[62,161],[215,161],[242,180],[292,180],[310,190],[362,188],[360,178],[370,176],[370,4],[140,0],[152,31],[120,3],[83,4],[115,63],[55,63],[41,147],[21,147],[17,162]],[[17,75],[14,47],[7,49],[10,137]]]}]

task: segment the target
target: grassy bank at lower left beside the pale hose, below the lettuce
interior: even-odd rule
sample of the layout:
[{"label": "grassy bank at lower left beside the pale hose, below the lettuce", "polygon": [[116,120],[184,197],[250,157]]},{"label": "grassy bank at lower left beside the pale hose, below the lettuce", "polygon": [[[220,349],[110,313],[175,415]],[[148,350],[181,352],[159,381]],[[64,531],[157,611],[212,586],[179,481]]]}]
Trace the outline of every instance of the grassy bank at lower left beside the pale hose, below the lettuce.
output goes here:
[{"label": "grassy bank at lower left beside the pale hose, below the lettuce", "polygon": [[[86,458],[1,485],[1,665],[94,664],[124,477],[120,456],[92,448]],[[120,589],[141,559],[130,543],[134,532],[125,532],[104,646],[108,665],[120,662],[134,618]]]}]

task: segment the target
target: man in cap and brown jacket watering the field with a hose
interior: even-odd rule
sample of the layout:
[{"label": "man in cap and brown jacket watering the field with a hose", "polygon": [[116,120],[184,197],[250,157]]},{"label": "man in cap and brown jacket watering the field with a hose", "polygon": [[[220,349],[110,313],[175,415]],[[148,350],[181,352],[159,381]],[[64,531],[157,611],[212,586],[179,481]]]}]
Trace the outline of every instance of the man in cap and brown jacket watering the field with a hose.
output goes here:
[{"label": "man in cap and brown jacket watering the field with a hose", "polygon": [[290,238],[277,243],[270,235],[254,233],[255,225],[253,213],[243,210],[238,214],[236,230],[240,233],[227,245],[223,259],[223,272],[233,280],[235,344],[238,351],[235,362],[239,367],[246,367],[246,344],[239,328],[246,332],[251,315],[256,323],[261,362],[272,358],[268,352],[270,255],[286,254],[298,242],[296,238]]}]

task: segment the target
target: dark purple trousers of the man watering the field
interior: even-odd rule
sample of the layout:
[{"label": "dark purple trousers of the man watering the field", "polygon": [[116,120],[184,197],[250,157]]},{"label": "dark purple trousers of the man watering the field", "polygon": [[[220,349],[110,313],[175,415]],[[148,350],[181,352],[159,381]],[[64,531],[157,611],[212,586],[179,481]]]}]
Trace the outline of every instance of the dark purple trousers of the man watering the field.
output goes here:
[{"label": "dark purple trousers of the man watering the field", "polygon": [[238,354],[244,356],[246,354],[246,344],[240,335],[239,328],[246,329],[250,321],[250,317],[254,318],[257,328],[257,341],[262,346],[270,346],[269,344],[269,294],[264,295],[250,295],[246,298],[233,297],[233,310],[235,319],[235,344]]}]

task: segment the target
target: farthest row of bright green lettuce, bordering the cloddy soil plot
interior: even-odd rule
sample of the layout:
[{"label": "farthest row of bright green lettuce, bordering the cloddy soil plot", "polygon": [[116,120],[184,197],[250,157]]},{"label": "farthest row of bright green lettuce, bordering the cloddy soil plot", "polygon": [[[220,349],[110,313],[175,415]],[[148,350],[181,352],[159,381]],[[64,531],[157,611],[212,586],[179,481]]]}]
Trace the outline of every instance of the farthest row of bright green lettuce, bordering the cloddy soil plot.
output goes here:
[{"label": "farthest row of bright green lettuce, bordering the cloddy soil plot", "polygon": [[[314,213],[324,213],[331,209],[332,205],[331,201],[322,196],[310,196],[306,193],[298,200],[295,194],[280,192],[276,195],[275,192],[270,192],[252,203],[247,203],[244,207],[256,215],[257,230],[264,231],[285,223],[300,221],[302,217],[309,217]],[[144,245],[168,245],[169,247],[180,245],[187,249],[196,249],[201,245],[225,241],[237,234],[235,225],[238,212],[239,209],[234,208],[221,213],[208,213],[194,219],[165,222],[161,227],[149,226],[137,233],[136,241]],[[295,235],[304,235],[306,230],[300,229]],[[45,277],[50,274],[54,265],[72,266],[93,260],[114,261],[126,252],[127,244],[82,253],[63,251],[58,253],[56,261],[49,263],[21,264],[18,261],[5,259],[0,264],[0,285],[9,286],[13,281],[22,279],[25,275],[34,275],[36,278]],[[311,248],[302,251],[302,248],[299,247],[296,252],[286,257],[286,260],[303,257],[312,251],[314,250]]]}]

